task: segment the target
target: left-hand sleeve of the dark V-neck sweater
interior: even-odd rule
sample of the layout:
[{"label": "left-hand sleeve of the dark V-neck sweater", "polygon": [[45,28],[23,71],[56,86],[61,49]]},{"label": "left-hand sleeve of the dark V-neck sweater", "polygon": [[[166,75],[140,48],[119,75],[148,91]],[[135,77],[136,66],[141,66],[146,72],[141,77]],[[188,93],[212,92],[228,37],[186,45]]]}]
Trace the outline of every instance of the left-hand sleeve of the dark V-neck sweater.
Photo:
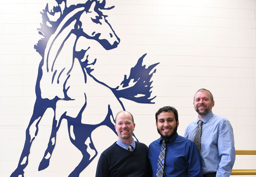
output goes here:
[{"label": "left-hand sleeve of the dark V-neck sweater", "polygon": [[99,161],[98,161],[98,165],[97,165],[97,169],[96,169],[96,175],[95,177],[108,177],[108,159],[106,158],[106,156],[104,154],[101,154]]}]

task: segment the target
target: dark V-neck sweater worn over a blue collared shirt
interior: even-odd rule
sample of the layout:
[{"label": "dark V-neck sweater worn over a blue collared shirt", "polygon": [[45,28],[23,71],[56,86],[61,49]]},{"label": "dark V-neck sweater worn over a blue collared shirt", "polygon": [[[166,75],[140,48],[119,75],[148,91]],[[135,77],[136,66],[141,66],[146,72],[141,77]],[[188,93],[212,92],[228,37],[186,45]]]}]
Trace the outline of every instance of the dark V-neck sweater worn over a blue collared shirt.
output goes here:
[{"label": "dark V-neck sweater worn over a blue collared shirt", "polygon": [[148,160],[148,147],[136,142],[130,152],[117,143],[102,152],[97,166],[96,177],[148,177],[152,176]]}]

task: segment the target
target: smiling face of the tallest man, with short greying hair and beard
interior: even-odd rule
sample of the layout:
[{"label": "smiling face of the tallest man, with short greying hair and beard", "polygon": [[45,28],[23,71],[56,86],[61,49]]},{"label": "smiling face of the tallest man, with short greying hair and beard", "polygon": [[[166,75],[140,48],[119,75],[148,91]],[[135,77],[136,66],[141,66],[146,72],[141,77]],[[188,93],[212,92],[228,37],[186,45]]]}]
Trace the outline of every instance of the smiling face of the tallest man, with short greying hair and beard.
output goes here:
[{"label": "smiling face of the tallest man, with short greying hair and beard", "polygon": [[195,111],[201,119],[211,112],[212,107],[214,107],[214,101],[211,100],[211,95],[208,91],[198,91],[194,98]]}]

